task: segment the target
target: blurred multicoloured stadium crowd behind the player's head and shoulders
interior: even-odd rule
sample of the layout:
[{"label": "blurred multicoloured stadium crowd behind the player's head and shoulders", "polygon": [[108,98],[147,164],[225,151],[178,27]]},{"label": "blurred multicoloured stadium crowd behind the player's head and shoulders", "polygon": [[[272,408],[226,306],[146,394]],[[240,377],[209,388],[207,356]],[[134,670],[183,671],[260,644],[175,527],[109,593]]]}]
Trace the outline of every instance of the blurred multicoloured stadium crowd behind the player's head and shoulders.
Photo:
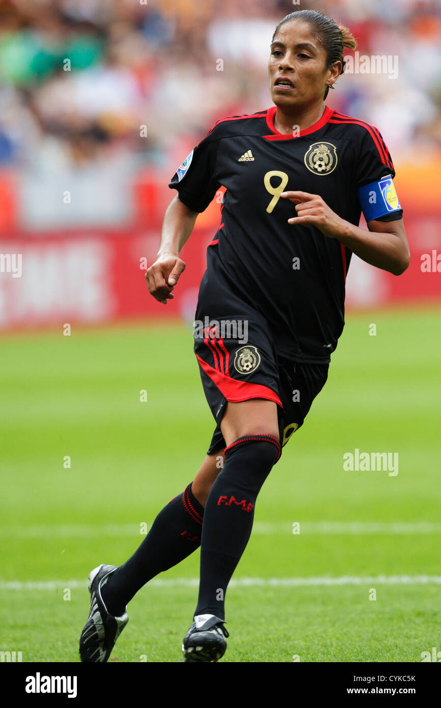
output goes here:
[{"label": "blurred multicoloured stadium crowd behind the player's head and shoulders", "polygon": [[0,169],[168,181],[216,120],[272,105],[270,38],[304,8],[399,57],[395,79],[341,76],[328,105],[379,126],[395,162],[440,151],[439,0],[3,0]]}]

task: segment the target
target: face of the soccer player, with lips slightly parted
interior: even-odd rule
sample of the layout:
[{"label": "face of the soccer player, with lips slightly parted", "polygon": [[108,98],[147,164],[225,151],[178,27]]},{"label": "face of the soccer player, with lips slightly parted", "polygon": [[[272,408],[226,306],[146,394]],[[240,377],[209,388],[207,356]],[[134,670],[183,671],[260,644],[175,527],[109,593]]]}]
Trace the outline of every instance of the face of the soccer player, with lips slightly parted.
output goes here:
[{"label": "face of the soccer player, with lips slightly parted", "polygon": [[[282,25],[271,44],[268,62],[273,103],[280,108],[307,108],[320,101],[326,84],[338,76],[338,68],[326,67],[326,59],[309,23],[293,20]],[[292,85],[280,83],[282,77]]]}]

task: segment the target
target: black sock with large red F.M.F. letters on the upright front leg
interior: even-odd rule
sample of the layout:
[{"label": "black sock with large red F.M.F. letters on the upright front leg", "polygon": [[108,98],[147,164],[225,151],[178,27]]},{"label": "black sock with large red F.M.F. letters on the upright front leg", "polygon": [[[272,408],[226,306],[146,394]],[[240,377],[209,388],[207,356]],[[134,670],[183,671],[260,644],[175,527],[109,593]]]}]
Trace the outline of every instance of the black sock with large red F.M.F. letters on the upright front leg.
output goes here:
[{"label": "black sock with large red F.M.F. letters on the upright front leg", "polygon": [[277,455],[280,446],[273,435],[247,435],[225,450],[224,469],[205,505],[195,615],[225,619],[227,585],[248,543],[256,498]]}]

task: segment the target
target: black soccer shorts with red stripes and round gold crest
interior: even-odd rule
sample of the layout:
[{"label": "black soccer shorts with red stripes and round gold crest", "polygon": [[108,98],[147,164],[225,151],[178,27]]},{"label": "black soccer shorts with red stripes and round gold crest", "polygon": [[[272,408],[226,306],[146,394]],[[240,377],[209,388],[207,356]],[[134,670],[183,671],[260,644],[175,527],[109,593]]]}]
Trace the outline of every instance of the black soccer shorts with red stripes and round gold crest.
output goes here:
[{"label": "black soccer shorts with red stripes and round gold crest", "polygon": [[[246,323],[246,324],[245,324]],[[195,355],[208,405],[217,423],[207,455],[225,447],[220,429],[227,401],[268,399],[277,404],[280,447],[303,425],[328,378],[328,363],[292,362],[277,355],[260,318],[195,321]]]}]

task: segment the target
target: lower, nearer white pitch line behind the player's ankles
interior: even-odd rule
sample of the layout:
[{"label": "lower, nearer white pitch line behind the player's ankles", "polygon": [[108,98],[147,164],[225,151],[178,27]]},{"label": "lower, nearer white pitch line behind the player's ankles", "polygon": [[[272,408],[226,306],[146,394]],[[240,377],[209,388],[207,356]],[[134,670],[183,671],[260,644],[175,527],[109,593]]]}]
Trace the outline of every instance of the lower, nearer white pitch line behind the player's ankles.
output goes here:
[{"label": "lower, nearer white pitch line behind the player's ankles", "polygon": [[[316,576],[311,578],[236,578],[229,583],[229,588],[304,588],[332,587],[343,585],[441,585],[441,576]],[[69,588],[86,589],[86,580],[49,580],[49,581],[0,581],[0,590],[64,590]],[[149,582],[154,588],[197,588],[198,578],[154,578]]]}]

